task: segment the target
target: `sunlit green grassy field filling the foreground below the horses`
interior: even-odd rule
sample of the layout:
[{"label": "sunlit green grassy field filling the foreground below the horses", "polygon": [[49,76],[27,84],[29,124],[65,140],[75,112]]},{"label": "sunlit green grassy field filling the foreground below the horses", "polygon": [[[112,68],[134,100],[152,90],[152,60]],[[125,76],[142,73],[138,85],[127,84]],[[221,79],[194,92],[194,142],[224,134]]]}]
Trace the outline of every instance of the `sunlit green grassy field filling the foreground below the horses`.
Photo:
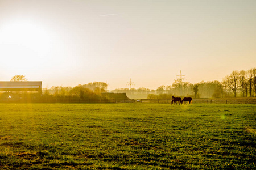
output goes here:
[{"label": "sunlit green grassy field filling the foreground below the horses", "polygon": [[255,104],[0,104],[0,169],[256,169]]}]

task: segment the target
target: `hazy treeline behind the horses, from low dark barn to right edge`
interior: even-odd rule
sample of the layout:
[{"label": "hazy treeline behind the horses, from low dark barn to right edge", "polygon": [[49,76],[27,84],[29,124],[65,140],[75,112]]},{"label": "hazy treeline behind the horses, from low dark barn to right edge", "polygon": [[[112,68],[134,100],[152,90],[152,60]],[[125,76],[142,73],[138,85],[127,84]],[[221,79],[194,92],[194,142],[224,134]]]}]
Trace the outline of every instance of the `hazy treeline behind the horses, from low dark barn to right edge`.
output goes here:
[{"label": "hazy treeline behind the horses, from low dark barn to right edge", "polygon": [[120,88],[111,92],[126,92],[130,99],[171,99],[172,96],[194,98],[253,97],[256,95],[256,68],[233,71],[222,82],[189,83],[176,80],[172,85],[159,86],[156,90],[148,88]]}]

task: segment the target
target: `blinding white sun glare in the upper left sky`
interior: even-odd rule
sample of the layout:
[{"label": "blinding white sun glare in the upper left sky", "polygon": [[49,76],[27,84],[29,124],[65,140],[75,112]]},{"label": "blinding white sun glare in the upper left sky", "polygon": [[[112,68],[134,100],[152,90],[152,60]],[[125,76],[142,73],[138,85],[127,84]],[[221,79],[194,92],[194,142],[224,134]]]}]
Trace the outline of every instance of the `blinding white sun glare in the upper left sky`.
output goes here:
[{"label": "blinding white sun glare in the upper left sky", "polygon": [[40,25],[28,21],[6,23],[0,27],[1,61],[26,66],[44,58],[51,48],[51,39]]}]

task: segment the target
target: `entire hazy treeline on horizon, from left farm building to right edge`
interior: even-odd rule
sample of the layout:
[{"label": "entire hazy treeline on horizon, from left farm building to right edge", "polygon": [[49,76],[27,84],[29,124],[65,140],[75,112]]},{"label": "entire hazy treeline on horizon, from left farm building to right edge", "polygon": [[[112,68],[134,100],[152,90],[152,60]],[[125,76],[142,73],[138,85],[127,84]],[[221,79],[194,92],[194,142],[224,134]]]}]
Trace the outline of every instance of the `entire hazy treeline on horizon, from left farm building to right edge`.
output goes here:
[{"label": "entire hazy treeline on horizon, from left farm building to right edge", "polygon": [[[102,99],[107,92],[108,84],[93,82],[76,87],[54,86],[43,89],[43,97]],[[119,88],[114,93],[126,93],[130,99],[171,99],[172,96],[193,98],[227,98],[256,96],[256,68],[250,70],[233,71],[225,76],[222,82],[217,80],[199,83],[180,83],[176,80],[172,85],[159,86],[156,90],[148,88]]]}]

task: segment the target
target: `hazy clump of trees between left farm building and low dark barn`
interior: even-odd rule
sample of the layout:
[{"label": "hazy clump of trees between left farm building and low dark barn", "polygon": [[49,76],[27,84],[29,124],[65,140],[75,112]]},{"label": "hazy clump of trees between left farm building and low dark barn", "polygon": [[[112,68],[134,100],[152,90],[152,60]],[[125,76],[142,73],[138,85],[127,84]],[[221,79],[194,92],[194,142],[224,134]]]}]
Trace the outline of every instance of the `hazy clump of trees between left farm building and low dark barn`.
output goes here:
[{"label": "hazy clump of trees between left farm building and low dark barn", "polygon": [[44,88],[43,97],[55,98],[75,98],[75,99],[100,99],[104,98],[101,94],[106,92],[108,85],[103,82],[93,82],[76,87],[53,86]]}]

